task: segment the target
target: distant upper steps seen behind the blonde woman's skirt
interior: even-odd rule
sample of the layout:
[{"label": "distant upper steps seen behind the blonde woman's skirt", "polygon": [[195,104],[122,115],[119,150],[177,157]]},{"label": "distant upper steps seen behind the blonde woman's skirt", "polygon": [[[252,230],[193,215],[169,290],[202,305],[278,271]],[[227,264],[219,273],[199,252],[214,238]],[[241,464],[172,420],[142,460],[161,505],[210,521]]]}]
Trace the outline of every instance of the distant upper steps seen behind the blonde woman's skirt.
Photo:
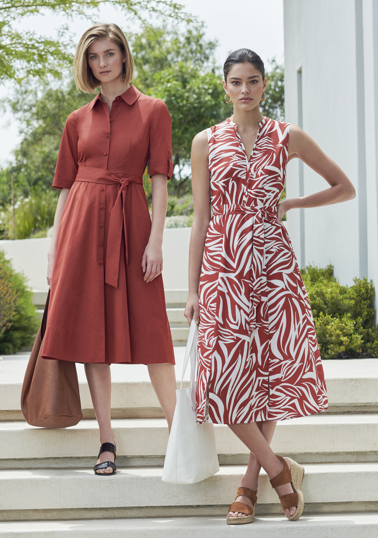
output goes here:
[{"label": "distant upper steps seen behind the blonde woman's skirt", "polygon": [[[33,290],[33,303],[37,309],[40,319],[44,313],[47,292]],[[167,315],[172,334],[173,345],[187,345],[189,327],[184,318],[184,309],[188,299],[187,289],[165,289]]]}]

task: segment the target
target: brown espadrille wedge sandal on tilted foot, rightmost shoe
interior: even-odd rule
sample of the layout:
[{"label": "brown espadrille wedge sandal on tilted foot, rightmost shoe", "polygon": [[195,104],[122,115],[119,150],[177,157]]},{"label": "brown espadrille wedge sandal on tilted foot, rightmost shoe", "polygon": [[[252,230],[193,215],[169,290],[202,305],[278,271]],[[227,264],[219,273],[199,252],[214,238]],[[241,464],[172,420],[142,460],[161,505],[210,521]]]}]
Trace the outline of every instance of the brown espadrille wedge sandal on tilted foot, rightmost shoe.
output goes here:
[{"label": "brown espadrille wedge sandal on tilted foot, rightmost shoe", "polygon": [[286,515],[290,521],[297,521],[302,515],[304,508],[304,497],[302,492],[302,482],[304,477],[304,468],[299,463],[295,462],[294,459],[288,458],[290,462],[290,469],[288,464],[283,459],[282,456],[277,456],[280,462],[283,465],[283,470],[279,475],[275,476],[270,480],[272,487],[283,486],[291,482],[291,487],[293,487],[294,493],[288,493],[287,495],[281,495],[279,497],[282,510],[285,508],[290,508],[291,506],[296,506],[296,512],[294,515]]}]

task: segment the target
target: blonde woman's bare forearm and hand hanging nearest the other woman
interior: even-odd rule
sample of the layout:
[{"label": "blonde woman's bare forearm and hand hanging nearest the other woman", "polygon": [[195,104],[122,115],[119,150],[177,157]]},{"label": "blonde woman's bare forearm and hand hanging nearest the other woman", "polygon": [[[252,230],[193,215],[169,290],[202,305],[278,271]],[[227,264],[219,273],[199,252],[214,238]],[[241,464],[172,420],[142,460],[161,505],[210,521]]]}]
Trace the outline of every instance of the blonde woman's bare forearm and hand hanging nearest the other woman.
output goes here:
[{"label": "blonde woman's bare forearm and hand hanging nearest the other woman", "polygon": [[151,282],[163,270],[163,229],[167,214],[167,176],[156,174],[151,177],[152,226],[148,243],[142,257],[144,281]]}]

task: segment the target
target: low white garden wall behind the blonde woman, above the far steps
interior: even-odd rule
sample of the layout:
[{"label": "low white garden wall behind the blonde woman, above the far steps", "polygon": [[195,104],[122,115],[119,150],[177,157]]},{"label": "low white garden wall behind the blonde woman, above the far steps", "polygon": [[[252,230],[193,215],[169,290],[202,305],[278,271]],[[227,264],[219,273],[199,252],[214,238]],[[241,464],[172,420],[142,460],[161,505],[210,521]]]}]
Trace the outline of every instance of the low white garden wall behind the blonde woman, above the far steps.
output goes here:
[{"label": "low white garden wall behind the blonde woman, above the far steps", "polygon": [[[163,232],[163,282],[165,289],[188,289],[189,241],[191,228],[166,228]],[[47,252],[51,238],[0,240],[0,250],[23,271],[28,285],[47,291]]]}]

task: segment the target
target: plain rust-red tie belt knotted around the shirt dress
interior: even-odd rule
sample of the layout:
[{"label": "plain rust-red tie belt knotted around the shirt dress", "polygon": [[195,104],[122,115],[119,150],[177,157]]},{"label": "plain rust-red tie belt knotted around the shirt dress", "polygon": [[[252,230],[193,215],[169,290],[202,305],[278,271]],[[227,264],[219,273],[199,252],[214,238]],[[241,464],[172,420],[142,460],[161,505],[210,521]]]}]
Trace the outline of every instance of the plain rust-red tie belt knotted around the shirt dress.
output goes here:
[{"label": "plain rust-red tie belt knotted around the shirt dress", "polygon": [[130,183],[141,183],[141,175],[118,174],[104,168],[91,166],[79,166],[75,181],[88,181],[100,185],[115,185],[118,183],[119,190],[113,209],[110,213],[108,244],[106,246],[105,282],[115,288],[118,287],[119,257],[122,242],[122,226],[125,229],[126,265],[127,257],[127,219],[126,219],[126,192]]}]

